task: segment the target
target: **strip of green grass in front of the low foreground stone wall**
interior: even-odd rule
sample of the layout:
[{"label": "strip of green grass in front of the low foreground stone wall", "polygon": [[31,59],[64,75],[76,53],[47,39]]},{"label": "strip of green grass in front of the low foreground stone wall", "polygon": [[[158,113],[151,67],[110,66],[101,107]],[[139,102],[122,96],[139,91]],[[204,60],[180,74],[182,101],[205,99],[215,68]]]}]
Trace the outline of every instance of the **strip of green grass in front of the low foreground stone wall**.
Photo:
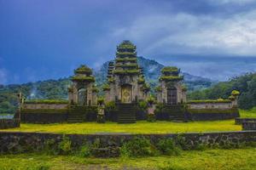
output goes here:
[{"label": "strip of green grass in front of the low foreground stone wall", "polygon": [[[125,168],[126,167],[126,168]],[[180,156],[142,158],[83,158],[79,156],[47,156],[20,154],[0,156],[3,170],[56,169],[196,169],[251,170],[256,167],[256,148],[234,150],[183,151]]]}]

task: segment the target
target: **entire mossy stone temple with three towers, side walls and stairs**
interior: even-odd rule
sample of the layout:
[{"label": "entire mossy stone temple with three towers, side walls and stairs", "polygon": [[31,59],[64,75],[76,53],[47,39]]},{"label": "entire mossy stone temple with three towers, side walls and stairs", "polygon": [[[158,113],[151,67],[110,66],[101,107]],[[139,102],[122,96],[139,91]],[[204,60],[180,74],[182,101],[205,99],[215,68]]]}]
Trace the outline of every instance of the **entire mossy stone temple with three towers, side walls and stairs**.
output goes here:
[{"label": "entire mossy stone temple with three towers, side walls and stairs", "polygon": [[71,77],[68,101],[24,102],[21,99],[21,121],[131,123],[153,119],[222,120],[239,116],[236,90],[229,99],[187,101],[180,70],[166,66],[161,70],[154,92],[145,81],[143,69],[147,68],[138,65],[137,48],[132,42],[121,42],[115,54],[115,59],[108,64],[101,91],[96,87],[92,70],[81,65]]}]

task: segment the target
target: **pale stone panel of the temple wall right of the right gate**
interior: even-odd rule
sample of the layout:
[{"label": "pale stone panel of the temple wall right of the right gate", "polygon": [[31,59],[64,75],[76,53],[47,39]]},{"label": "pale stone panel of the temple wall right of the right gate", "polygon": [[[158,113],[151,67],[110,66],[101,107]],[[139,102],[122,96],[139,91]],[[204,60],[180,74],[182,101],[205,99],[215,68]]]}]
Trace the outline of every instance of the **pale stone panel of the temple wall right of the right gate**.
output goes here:
[{"label": "pale stone panel of the temple wall right of the right gate", "polygon": [[232,103],[194,103],[188,104],[189,109],[231,109]]}]

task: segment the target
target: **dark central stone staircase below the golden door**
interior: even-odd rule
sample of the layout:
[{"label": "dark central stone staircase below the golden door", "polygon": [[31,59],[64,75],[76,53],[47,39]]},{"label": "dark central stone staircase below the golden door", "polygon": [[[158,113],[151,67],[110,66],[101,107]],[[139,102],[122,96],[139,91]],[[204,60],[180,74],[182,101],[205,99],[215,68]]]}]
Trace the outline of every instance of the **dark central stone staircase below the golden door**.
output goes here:
[{"label": "dark central stone staircase below the golden door", "polygon": [[118,104],[118,122],[135,123],[136,122],[136,105],[135,104]]}]

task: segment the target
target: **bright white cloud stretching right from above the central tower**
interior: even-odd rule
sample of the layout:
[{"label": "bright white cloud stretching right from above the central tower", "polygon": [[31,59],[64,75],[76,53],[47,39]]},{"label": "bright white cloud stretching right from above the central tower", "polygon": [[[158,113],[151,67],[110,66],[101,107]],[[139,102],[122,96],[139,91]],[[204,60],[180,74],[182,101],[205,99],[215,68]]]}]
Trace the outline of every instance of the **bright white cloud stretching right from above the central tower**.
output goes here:
[{"label": "bright white cloud stretching right from above the central tower", "polygon": [[[106,39],[106,37],[104,37]],[[114,27],[109,40],[130,39],[142,54],[256,55],[256,10],[229,18],[151,14]]]}]

